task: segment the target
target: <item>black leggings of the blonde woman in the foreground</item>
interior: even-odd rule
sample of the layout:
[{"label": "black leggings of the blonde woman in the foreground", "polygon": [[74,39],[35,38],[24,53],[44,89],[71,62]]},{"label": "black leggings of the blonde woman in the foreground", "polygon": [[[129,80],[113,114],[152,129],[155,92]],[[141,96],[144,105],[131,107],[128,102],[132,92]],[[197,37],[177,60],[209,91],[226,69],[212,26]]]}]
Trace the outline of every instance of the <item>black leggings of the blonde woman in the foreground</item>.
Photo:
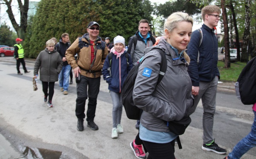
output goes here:
[{"label": "black leggings of the blonde woman in the foreground", "polygon": [[175,159],[175,140],[166,144],[143,141],[143,144],[148,151],[147,159]]}]

